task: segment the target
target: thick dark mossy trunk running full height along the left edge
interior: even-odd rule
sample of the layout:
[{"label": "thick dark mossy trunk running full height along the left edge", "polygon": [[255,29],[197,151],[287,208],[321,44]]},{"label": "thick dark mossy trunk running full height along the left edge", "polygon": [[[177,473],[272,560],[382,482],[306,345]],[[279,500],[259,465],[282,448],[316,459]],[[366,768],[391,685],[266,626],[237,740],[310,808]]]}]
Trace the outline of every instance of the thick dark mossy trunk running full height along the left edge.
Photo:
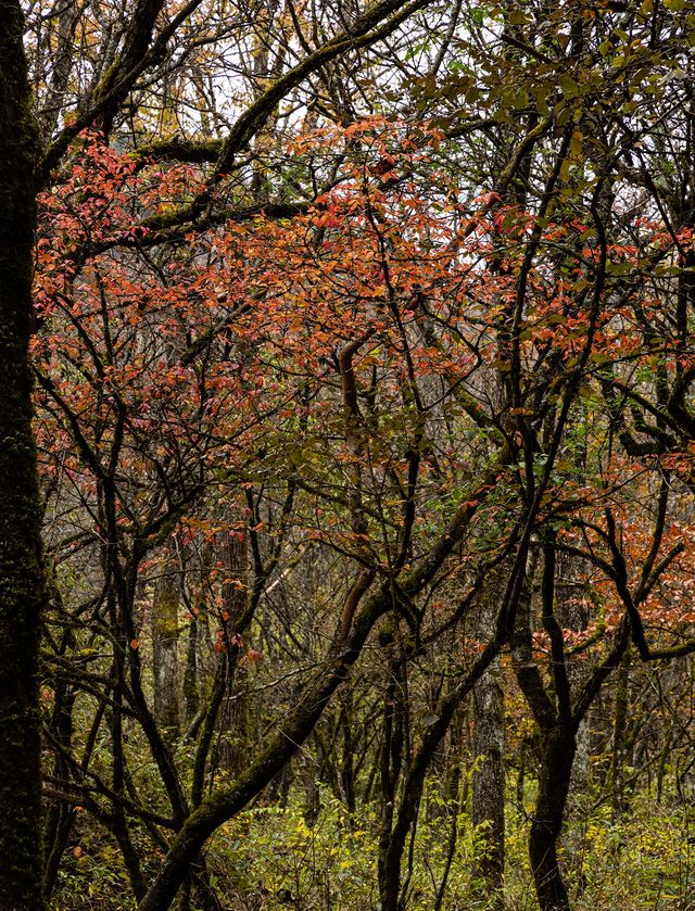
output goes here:
[{"label": "thick dark mossy trunk running full height along the left edge", "polygon": [[45,583],[31,432],[38,132],[24,20],[0,0],[0,907],[41,903],[38,655]]}]

